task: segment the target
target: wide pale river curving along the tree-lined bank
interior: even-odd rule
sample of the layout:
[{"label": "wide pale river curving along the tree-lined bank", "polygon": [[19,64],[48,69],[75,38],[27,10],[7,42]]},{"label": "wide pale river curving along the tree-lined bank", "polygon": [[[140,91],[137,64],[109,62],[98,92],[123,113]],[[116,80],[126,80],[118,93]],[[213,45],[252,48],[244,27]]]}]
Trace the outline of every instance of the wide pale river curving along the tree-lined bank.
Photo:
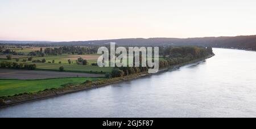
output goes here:
[{"label": "wide pale river curving along the tree-lined bank", "polygon": [[0,117],[256,117],[256,52],[0,109]]}]

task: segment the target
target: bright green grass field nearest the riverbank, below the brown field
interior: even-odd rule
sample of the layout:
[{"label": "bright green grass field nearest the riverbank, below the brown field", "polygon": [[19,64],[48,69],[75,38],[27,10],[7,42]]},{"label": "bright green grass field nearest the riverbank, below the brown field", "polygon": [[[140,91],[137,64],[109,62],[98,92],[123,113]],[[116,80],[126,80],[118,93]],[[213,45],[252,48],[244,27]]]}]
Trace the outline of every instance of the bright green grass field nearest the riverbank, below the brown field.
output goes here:
[{"label": "bright green grass field nearest the riverbank, below the brown field", "polygon": [[86,80],[96,81],[104,78],[61,78],[46,80],[6,80],[0,79],[0,96],[13,96],[19,93],[33,93],[44,89],[61,88],[64,84],[81,84]]}]

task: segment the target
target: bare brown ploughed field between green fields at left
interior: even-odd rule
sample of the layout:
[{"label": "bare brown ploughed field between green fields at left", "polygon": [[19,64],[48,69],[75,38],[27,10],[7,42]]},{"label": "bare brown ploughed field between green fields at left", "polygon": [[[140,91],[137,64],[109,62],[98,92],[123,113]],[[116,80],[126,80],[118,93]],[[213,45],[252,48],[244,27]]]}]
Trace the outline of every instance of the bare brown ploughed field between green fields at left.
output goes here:
[{"label": "bare brown ploughed field between green fields at left", "polygon": [[35,80],[35,79],[53,79],[53,78],[70,78],[70,77],[104,77],[101,74],[84,74],[73,72],[55,72],[55,71],[28,71],[28,70],[12,70],[0,68],[0,79],[19,79],[19,80]]}]

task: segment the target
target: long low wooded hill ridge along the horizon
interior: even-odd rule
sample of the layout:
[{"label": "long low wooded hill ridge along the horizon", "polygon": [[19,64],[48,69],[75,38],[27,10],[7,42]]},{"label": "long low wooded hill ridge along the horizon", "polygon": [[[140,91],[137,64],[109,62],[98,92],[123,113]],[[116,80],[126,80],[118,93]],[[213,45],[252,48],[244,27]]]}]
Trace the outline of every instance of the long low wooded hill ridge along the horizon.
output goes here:
[{"label": "long low wooded hill ridge along the horizon", "polygon": [[[0,41],[1,43],[2,41]],[[36,44],[39,44],[38,41]],[[236,37],[202,37],[202,38],[125,38],[115,40],[71,41],[71,42],[44,42],[51,45],[106,45],[116,42],[117,45],[126,46],[212,46],[215,48],[234,48],[256,50],[256,35]],[[34,43],[35,44],[35,43]]]}]

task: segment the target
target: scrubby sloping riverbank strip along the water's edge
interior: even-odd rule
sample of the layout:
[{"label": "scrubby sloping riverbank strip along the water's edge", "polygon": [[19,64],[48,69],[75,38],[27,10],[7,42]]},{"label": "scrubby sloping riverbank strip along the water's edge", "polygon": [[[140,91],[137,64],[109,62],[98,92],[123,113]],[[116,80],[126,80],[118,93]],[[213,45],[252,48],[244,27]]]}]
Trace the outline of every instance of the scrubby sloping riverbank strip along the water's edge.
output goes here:
[{"label": "scrubby sloping riverbank strip along the water's edge", "polygon": [[[213,55],[209,55],[208,57],[205,57],[205,58],[196,59],[196,60],[193,60],[190,62],[182,63],[182,64],[171,66],[168,68],[163,68],[163,69],[159,70],[159,72],[156,74],[159,74],[161,72],[166,72],[168,70],[173,70],[177,67],[185,66],[185,65],[188,65],[191,63],[204,61],[205,59],[210,58],[210,57],[213,57]],[[57,96],[61,96],[61,95],[68,94],[68,93],[74,93],[74,92],[79,92],[79,91],[85,91],[85,90],[105,87],[106,85],[121,83],[123,81],[134,80],[134,79],[151,76],[151,75],[155,75],[155,74],[148,74],[147,72],[145,72],[145,73],[139,73],[139,74],[134,74],[134,75],[129,75],[129,76],[123,76],[122,78],[113,78],[113,79],[96,81],[96,82],[85,82],[84,84],[71,85],[68,87],[60,88],[60,89],[52,89],[49,91],[47,90],[47,91],[42,91],[42,92],[37,92],[37,93],[23,94],[22,96],[13,96],[13,97],[7,98],[5,100],[5,104],[1,105],[0,108],[6,108],[8,106],[23,104],[26,102],[44,100],[47,98],[57,97]]]}]

